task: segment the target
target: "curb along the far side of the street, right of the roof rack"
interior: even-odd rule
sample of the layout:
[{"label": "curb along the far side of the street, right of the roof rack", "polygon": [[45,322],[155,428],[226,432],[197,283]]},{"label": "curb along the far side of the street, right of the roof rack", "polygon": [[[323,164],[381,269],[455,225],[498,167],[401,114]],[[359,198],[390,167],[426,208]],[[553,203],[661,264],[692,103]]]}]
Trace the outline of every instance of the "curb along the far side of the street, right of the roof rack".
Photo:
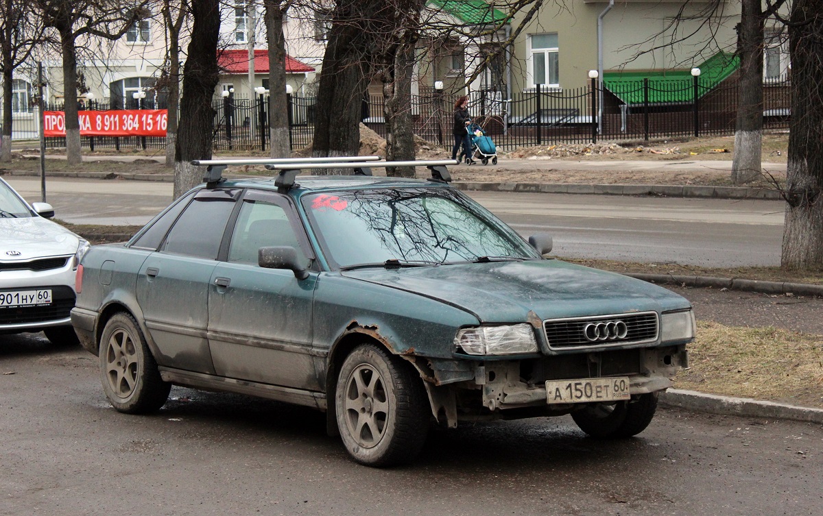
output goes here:
[{"label": "curb along the far side of the street, right of the roof rack", "polygon": [[539,182],[454,182],[463,191],[516,191],[605,196],[703,197],[714,199],[780,200],[779,191],[768,188],[705,187],[697,185],[595,185]]}]

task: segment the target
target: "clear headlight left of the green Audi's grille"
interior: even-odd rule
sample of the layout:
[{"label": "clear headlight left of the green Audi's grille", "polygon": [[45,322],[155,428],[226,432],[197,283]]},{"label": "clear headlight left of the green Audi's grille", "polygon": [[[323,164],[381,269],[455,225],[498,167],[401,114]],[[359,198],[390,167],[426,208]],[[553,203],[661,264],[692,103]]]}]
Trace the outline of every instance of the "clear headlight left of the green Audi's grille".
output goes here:
[{"label": "clear headlight left of the green Audi's grille", "polygon": [[454,343],[469,355],[515,355],[537,352],[531,325],[481,326],[464,328]]}]

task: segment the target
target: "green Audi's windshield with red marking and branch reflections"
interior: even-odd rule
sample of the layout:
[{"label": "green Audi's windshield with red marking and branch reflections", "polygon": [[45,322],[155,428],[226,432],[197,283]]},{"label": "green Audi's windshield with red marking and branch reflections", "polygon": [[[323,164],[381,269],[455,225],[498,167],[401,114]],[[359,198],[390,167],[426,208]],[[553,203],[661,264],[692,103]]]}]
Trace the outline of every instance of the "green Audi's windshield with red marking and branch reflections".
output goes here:
[{"label": "green Audi's windshield with red marking and branch reflections", "polygon": [[303,204],[328,259],[341,268],[540,259],[449,188],[338,191],[305,196]]}]

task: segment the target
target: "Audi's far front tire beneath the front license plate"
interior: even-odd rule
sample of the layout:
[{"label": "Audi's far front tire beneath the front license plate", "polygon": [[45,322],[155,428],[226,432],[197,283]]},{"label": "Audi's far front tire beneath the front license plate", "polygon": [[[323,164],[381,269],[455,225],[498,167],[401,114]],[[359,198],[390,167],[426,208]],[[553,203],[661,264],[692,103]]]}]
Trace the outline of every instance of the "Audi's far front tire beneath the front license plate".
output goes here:
[{"label": "Audi's far front tire beneath the front license plate", "polygon": [[658,408],[658,393],[640,394],[630,402],[591,404],[571,413],[580,430],[599,439],[637,435],[649,426]]}]

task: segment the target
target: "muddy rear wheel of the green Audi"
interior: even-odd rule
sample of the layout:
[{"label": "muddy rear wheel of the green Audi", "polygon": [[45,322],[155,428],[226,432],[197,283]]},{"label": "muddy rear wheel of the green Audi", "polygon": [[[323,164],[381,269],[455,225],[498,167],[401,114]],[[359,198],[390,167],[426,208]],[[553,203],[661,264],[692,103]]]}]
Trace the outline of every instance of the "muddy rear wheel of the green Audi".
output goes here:
[{"label": "muddy rear wheel of the green Audi", "polygon": [[100,337],[100,376],[109,403],[119,412],[155,412],[169,399],[171,384],[160,378],[137,321],[115,314]]}]

